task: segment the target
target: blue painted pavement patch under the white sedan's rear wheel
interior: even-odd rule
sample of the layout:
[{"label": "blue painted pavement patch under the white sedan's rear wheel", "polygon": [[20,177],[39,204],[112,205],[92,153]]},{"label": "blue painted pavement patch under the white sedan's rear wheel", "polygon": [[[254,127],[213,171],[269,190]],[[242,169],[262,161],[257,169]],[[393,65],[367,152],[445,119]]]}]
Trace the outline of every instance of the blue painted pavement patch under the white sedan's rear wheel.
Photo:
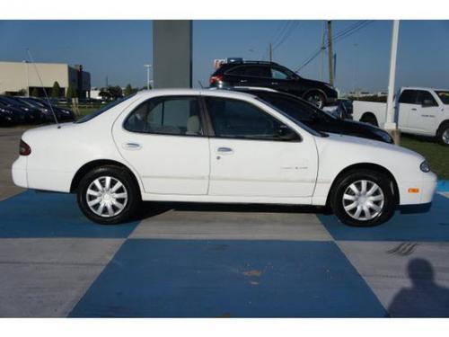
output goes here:
[{"label": "blue painted pavement patch under the white sedan's rear wheel", "polygon": [[120,238],[138,222],[101,226],[84,217],[74,194],[24,191],[0,202],[0,237]]}]

